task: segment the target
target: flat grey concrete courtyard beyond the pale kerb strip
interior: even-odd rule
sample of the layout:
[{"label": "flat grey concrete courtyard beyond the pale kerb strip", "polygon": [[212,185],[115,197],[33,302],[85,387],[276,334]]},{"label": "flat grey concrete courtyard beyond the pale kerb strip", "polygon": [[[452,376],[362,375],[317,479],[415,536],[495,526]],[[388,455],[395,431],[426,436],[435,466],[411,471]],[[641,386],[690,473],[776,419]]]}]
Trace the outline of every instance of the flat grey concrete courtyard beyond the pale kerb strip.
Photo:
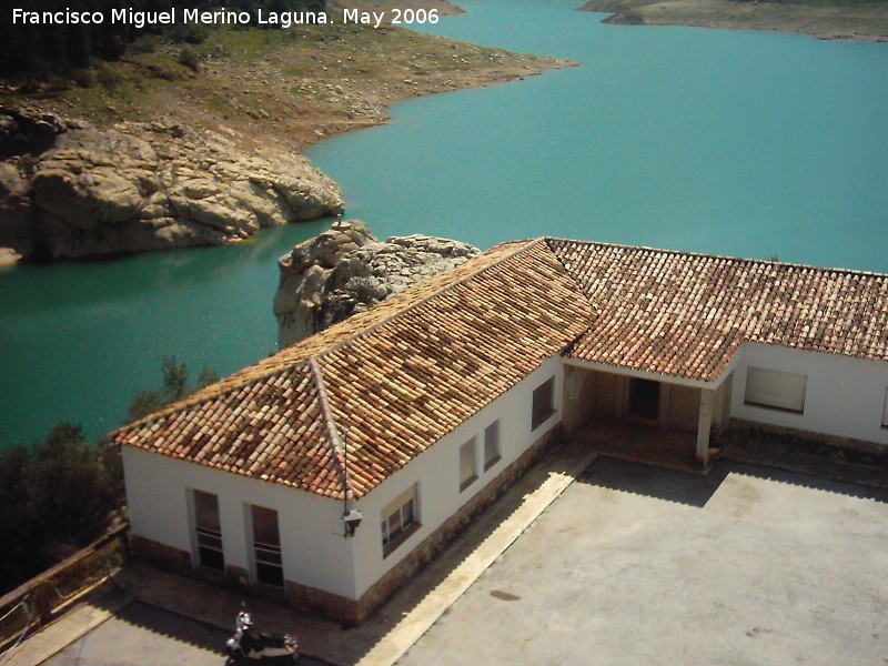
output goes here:
[{"label": "flat grey concrete courtyard beyond the pale kerb strip", "polygon": [[599,458],[400,663],[888,664],[886,502]]}]

